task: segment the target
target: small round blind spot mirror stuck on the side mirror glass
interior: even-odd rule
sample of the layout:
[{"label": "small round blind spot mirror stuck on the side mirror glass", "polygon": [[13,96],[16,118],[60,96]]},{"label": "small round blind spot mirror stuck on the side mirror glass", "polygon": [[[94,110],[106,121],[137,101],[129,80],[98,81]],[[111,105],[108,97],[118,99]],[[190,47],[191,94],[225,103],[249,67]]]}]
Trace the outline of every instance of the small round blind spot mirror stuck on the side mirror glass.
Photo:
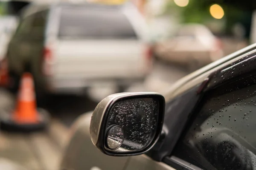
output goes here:
[{"label": "small round blind spot mirror stuck on the side mirror glass", "polygon": [[121,126],[113,126],[108,130],[107,146],[111,150],[118,149],[124,141],[124,131]]}]

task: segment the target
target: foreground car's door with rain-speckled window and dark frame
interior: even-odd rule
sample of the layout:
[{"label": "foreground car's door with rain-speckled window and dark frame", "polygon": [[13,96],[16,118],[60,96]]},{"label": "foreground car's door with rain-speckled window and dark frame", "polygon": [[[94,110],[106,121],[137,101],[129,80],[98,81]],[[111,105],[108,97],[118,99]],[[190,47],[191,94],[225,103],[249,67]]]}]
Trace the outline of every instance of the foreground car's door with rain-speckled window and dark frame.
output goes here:
[{"label": "foreground car's door with rain-speckled window and dark frame", "polygon": [[212,73],[164,162],[175,169],[256,169],[256,53]]}]

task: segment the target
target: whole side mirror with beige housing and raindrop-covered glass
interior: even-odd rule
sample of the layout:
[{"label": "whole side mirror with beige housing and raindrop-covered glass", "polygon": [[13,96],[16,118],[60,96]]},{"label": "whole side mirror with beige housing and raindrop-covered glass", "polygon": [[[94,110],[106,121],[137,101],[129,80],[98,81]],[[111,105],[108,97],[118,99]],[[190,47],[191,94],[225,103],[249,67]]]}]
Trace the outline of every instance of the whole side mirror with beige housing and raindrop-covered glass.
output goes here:
[{"label": "whole side mirror with beige housing and raindrop-covered glass", "polygon": [[103,99],[90,121],[93,144],[111,156],[140,155],[160,136],[165,99],[157,93],[119,93]]}]

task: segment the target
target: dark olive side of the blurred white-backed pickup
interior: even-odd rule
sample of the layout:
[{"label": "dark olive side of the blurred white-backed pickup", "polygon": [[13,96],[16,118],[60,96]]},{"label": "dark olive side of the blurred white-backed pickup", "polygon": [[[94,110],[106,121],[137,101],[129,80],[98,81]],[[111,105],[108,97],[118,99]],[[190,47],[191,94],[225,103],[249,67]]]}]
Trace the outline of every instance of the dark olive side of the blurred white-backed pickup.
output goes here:
[{"label": "dark olive side of the blurred white-backed pickup", "polygon": [[[44,34],[48,10],[38,11],[20,20],[16,34],[9,43],[7,57],[9,70],[21,76],[29,71],[33,74],[36,89],[43,87],[41,61],[44,53]],[[17,84],[17,83],[16,83]]]}]

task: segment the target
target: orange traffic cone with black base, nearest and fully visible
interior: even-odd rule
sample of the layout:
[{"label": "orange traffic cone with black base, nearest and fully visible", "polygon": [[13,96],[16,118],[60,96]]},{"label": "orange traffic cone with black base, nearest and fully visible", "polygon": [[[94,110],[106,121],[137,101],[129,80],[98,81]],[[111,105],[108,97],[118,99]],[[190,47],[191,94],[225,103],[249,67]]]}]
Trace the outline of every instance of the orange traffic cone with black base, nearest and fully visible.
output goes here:
[{"label": "orange traffic cone with black base, nearest and fully visible", "polygon": [[2,119],[1,129],[11,131],[42,130],[48,122],[48,113],[36,108],[34,82],[30,73],[23,74],[14,112]]}]

